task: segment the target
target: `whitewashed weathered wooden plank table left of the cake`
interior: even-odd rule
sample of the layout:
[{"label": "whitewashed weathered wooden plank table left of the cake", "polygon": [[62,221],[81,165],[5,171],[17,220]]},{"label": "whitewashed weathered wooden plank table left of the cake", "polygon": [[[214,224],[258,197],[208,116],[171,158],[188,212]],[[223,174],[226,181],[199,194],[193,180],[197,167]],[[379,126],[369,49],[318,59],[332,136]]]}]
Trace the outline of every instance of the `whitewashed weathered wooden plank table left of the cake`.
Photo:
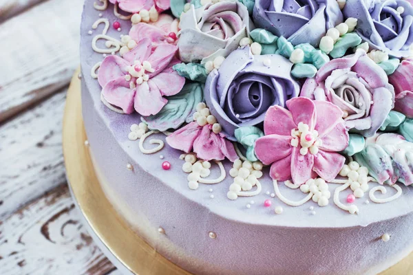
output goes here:
[{"label": "whitewashed weathered wooden plank table left of the cake", "polygon": [[0,274],[120,275],[65,179],[65,93],[83,0],[0,0]]}]

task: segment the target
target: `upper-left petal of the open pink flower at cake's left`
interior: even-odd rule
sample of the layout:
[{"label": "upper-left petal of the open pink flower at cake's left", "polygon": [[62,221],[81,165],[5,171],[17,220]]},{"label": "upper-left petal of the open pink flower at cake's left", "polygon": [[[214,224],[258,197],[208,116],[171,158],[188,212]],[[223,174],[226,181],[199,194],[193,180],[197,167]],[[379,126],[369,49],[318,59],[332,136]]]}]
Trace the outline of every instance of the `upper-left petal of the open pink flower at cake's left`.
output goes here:
[{"label": "upper-left petal of the open pink flower at cake's left", "polygon": [[127,74],[126,67],[130,65],[119,56],[110,55],[103,59],[98,71],[98,83],[104,87],[110,80],[114,80]]}]

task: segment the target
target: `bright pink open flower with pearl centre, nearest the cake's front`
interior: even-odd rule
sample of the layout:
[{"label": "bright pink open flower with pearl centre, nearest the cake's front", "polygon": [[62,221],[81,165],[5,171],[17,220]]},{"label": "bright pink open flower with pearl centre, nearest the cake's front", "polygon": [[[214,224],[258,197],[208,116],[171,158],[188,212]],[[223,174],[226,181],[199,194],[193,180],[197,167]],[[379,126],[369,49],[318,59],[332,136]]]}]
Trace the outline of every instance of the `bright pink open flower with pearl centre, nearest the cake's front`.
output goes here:
[{"label": "bright pink open flower with pearl centre, nearest the cake's front", "polygon": [[346,160],[339,153],[348,145],[348,133],[339,107],[326,101],[293,98],[287,109],[273,106],[264,120],[264,137],[255,141],[255,155],[270,165],[278,181],[304,184],[317,175],[335,179]]}]

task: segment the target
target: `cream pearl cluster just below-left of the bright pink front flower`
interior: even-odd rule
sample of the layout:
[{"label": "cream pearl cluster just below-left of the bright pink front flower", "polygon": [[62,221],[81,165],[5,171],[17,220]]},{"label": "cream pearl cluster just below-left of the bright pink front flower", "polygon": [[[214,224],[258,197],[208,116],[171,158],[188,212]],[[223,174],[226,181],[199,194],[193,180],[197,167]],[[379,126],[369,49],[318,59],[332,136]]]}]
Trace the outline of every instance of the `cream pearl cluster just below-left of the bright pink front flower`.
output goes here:
[{"label": "cream pearl cluster just below-left of the bright pink front flower", "polygon": [[237,159],[233,164],[233,168],[229,170],[229,175],[234,178],[234,181],[229,186],[226,197],[234,200],[238,197],[237,192],[241,192],[241,190],[249,191],[257,185],[257,179],[262,177],[262,163],[248,160],[242,162],[241,159]]}]

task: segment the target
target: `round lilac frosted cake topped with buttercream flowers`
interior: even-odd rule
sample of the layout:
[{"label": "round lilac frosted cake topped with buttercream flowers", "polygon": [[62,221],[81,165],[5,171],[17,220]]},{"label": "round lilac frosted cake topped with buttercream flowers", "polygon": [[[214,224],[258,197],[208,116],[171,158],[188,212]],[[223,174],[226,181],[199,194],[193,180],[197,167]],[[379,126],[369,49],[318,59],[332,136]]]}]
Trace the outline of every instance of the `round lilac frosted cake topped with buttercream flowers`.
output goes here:
[{"label": "round lilac frosted cake topped with buttercream flowers", "polygon": [[413,250],[412,23],[404,0],[86,0],[105,195],[193,274],[388,269]]}]

